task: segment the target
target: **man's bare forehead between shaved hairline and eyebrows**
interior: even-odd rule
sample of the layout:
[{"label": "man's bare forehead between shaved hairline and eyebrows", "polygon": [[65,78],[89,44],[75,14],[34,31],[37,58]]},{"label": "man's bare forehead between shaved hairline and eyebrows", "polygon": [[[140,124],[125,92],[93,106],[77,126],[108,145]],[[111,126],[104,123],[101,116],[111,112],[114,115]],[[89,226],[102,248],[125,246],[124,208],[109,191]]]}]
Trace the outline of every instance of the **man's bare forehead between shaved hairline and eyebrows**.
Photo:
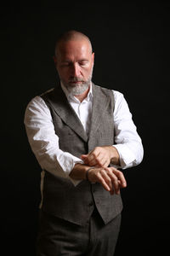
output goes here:
[{"label": "man's bare forehead between shaved hairline and eyebrows", "polygon": [[70,40],[61,42],[58,47],[60,58],[88,58],[91,53],[91,47],[86,39]]}]

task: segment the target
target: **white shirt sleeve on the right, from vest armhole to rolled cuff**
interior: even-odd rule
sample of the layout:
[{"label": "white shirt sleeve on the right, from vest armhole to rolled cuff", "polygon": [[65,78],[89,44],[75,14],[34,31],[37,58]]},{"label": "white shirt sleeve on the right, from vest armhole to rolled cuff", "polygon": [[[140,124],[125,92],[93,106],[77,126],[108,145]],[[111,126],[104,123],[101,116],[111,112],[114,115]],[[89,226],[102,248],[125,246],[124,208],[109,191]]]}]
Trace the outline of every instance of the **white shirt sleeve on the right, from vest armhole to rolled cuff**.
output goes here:
[{"label": "white shirt sleeve on the right, from vest armhole to rolled cuff", "polygon": [[116,90],[113,90],[113,93],[115,96],[113,113],[115,144],[113,146],[120,155],[120,167],[126,169],[139,165],[143,160],[144,148],[124,96]]}]

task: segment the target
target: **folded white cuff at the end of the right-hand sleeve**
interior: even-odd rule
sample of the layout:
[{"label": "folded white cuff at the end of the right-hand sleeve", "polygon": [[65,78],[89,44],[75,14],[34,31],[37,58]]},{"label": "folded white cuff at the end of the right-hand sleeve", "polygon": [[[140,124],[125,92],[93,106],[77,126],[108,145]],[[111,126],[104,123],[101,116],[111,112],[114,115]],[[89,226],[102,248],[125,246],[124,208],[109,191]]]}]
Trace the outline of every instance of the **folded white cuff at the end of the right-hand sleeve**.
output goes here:
[{"label": "folded white cuff at the end of the right-hand sleeve", "polygon": [[135,160],[135,156],[133,152],[127,147],[126,144],[116,144],[113,145],[119,153],[120,156],[120,164],[122,169],[126,169],[131,166],[133,161]]}]

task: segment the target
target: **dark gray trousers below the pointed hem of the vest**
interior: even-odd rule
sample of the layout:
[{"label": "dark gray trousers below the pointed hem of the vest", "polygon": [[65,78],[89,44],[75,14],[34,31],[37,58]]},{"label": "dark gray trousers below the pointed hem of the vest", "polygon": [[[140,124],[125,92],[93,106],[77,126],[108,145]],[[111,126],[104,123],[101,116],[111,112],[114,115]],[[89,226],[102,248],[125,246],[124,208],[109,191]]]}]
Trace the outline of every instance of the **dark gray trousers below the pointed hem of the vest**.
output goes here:
[{"label": "dark gray trousers below the pointed hem of the vest", "polygon": [[97,210],[84,226],[41,212],[37,256],[113,256],[121,214],[104,224]]}]

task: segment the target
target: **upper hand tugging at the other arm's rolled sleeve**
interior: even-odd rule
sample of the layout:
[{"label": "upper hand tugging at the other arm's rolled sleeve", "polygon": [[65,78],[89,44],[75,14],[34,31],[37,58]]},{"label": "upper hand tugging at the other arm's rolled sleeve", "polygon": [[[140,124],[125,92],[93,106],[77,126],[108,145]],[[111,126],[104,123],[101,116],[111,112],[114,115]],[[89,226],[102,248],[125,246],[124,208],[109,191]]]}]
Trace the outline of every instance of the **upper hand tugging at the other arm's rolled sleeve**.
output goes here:
[{"label": "upper hand tugging at the other arm's rolled sleeve", "polygon": [[108,167],[112,162],[119,165],[119,154],[113,146],[96,147],[88,154],[82,154],[85,165],[96,167]]}]

